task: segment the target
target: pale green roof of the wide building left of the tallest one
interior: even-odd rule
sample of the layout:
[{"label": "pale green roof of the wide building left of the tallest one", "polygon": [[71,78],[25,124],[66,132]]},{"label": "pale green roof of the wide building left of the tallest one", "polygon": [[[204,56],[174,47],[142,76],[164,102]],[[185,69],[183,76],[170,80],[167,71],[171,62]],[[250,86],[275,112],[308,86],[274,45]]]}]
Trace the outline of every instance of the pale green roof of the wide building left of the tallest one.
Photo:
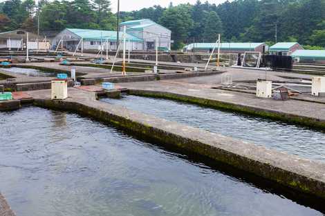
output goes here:
[{"label": "pale green roof of the wide building left of the tallest one", "polygon": [[[80,28],[67,28],[67,30],[73,32],[73,34],[82,37],[84,40],[100,41],[101,39],[109,41],[116,41],[117,33],[115,31],[105,30],[93,30],[93,29],[80,29]],[[119,32],[120,38],[122,38],[123,32]],[[143,41],[136,36],[127,34],[127,40],[130,41]]]}]

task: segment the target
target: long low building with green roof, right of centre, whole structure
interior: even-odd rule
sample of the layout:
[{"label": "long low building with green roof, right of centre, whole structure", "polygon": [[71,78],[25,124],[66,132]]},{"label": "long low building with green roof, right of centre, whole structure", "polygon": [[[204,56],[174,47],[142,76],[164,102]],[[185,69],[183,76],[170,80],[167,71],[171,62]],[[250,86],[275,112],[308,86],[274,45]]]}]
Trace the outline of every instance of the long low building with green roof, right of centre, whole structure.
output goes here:
[{"label": "long low building with green roof, right of centre, whole structure", "polygon": [[[183,52],[212,52],[218,43],[191,43],[183,48]],[[263,52],[268,50],[266,43],[221,43],[221,52],[244,53]]]}]

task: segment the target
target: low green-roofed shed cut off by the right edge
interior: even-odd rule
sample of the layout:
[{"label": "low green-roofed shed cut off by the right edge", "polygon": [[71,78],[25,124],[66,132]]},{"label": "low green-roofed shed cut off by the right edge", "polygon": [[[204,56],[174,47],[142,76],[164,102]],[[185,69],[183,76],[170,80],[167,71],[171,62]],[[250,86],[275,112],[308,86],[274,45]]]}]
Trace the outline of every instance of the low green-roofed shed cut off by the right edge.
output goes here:
[{"label": "low green-roofed shed cut off by the right edge", "polygon": [[325,63],[325,50],[296,50],[291,56],[298,62]]}]

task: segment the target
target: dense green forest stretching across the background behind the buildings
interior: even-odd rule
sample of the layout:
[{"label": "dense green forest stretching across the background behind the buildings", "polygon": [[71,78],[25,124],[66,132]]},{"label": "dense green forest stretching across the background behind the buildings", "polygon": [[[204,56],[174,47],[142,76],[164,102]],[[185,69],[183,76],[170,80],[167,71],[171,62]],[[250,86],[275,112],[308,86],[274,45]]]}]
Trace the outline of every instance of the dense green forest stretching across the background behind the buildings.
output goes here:
[{"label": "dense green forest stretching across the background behind the buildings", "polygon": [[[115,30],[116,14],[109,0],[38,1],[0,3],[0,31],[25,28],[41,32],[64,28]],[[325,47],[325,0],[234,0],[214,3],[154,6],[121,12],[121,20],[152,19],[169,28],[174,48],[185,43],[223,41],[298,41],[308,48]],[[314,46],[314,47],[313,47]]]}]

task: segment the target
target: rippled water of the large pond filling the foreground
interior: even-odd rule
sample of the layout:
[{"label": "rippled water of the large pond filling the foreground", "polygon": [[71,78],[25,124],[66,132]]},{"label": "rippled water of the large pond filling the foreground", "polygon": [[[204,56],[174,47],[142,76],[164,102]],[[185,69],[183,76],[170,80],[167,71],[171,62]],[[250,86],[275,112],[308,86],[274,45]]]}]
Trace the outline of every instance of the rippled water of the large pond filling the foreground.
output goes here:
[{"label": "rippled water of the large pond filling the foreground", "polygon": [[17,216],[325,213],[317,200],[298,199],[290,189],[68,112],[1,112],[0,128],[0,193]]}]

